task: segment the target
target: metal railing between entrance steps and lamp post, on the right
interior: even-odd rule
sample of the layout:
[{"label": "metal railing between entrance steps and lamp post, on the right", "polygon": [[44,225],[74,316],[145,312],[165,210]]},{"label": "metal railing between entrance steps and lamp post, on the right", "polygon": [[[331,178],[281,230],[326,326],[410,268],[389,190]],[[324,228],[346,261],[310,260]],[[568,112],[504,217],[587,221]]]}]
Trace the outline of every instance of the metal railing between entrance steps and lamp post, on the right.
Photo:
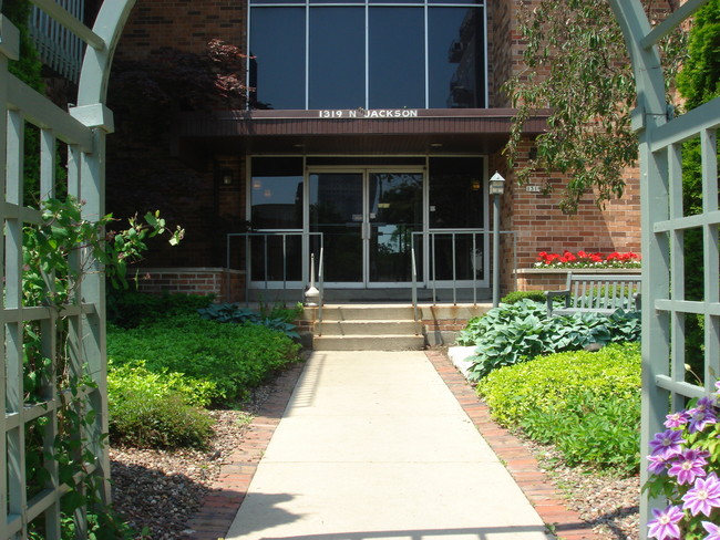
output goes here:
[{"label": "metal railing between entrance steps and lamp post, on the right", "polygon": [[[511,235],[514,237],[515,231],[512,230],[501,230],[498,231],[501,235]],[[452,241],[452,293],[453,293],[453,304],[457,304],[457,268],[455,263],[456,259],[456,242],[457,242],[457,237],[461,236],[466,236],[466,235],[472,235],[472,252],[475,253],[477,249],[477,236],[479,235],[492,235],[493,231],[486,230],[486,229],[438,229],[438,230],[429,230],[429,231],[414,231],[412,232],[413,235],[413,242],[412,242],[412,248],[411,248],[411,264],[412,264],[412,305],[413,310],[415,311],[415,318],[418,316],[418,278],[416,278],[416,260],[415,260],[415,249],[414,249],[414,237],[419,236],[421,238],[429,237],[430,239],[430,281],[432,283],[432,303],[435,304],[438,302],[438,273],[436,273],[436,261],[435,261],[435,239],[438,236],[450,236],[451,241]],[[516,242],[513,241],[513,267],[516,266],[517,262],[517,246]],[[495,261],[492,261],[492,264],[495,264]],[[473,290],[473,304],[477,304],[477,267],[476,267],[476,260],[473,255],[472,257],[472,266],[473,266],[473,279],[467,280],[472,281],[472,290]]]}]

